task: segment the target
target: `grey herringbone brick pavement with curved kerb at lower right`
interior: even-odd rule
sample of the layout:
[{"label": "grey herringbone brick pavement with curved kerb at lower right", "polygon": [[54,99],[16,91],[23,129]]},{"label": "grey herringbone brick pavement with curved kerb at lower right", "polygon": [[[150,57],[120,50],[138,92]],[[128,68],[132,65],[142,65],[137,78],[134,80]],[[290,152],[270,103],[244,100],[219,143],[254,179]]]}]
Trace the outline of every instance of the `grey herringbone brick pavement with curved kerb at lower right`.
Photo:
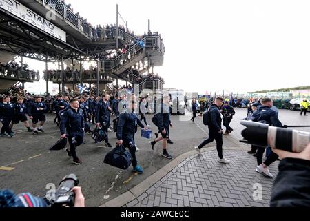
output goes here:
[{"label": "grey herringbone brick pavement with curved kerb at lower right", "polygon": [[[273,179],[256,173],[256,157],[246,151],[226,150],[231,164],[220,164],[216,150],[187,157],[175,169],[125,206],[240,207],[269,206]],[[276,176],[278,162],[270,166]],[[262,200],[254,200],[254,184],[262,185]]]}]

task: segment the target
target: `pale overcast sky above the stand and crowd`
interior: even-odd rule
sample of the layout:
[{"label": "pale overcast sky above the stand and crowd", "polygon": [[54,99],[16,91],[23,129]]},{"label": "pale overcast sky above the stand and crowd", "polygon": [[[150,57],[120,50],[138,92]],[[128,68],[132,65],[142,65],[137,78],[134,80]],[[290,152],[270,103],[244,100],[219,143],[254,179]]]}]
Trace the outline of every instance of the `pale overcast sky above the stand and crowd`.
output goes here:
[{"label": "pale overcast sky above the stand and crowd", "polygon": [[[164,38],[165,88],[187,92],[310,85],[310,1],[66,0],[92,24],[116,23]],[[120,19],[122,23],[122,20]]]}]

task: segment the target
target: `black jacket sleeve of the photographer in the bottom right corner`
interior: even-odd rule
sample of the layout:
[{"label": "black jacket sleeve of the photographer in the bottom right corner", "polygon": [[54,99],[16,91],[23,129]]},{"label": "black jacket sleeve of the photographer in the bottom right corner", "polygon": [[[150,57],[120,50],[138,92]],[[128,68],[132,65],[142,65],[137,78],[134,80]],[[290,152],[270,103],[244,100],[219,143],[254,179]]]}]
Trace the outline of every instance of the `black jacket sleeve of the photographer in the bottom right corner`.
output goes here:
[{"label": "black jacket sleeve of the photographer in the bottom right corner", "polygon": [[286,158],[280,162],[270,206],[310,207],[310,160]]}]

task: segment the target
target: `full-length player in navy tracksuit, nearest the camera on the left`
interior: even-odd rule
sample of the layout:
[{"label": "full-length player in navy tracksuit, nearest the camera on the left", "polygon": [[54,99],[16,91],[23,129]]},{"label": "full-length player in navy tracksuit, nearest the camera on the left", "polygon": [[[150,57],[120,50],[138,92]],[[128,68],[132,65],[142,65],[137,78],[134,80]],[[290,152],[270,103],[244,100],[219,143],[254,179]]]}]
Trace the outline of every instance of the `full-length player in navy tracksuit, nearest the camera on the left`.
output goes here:
[{"label": "full-length player in navy tracksuit, nearest the camera on the left", "polygon": [[[73,157],[73,164],[81,164],[82,161],[76,155],[76,147],[83,143],[84,139],[84,117],[83,110],[79,108],[79,100],[70,100],[70,107],[61,113],[61,124],[59,126],[61,137],[68,137],[70,149],[66,149],[69,157]],[[67,128],[67,134],[65,133]]]}]

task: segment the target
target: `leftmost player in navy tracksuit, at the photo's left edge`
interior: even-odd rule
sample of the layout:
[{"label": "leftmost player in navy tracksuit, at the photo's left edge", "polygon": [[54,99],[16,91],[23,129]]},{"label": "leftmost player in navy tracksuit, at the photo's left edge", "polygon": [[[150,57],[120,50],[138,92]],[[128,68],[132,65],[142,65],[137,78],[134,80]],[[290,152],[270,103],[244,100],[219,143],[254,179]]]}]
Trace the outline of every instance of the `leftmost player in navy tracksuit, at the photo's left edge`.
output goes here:
[{"label": "leftmost player in navy tracksuit, at the photo's left edge", "polygon": [[10,129],[10,122],[14,117],[14,104],[11,103],[10,97],[5,97],[0,103],[0,122],[3,124],[1,128],[1,136],[13,137],[15,134]]}]

